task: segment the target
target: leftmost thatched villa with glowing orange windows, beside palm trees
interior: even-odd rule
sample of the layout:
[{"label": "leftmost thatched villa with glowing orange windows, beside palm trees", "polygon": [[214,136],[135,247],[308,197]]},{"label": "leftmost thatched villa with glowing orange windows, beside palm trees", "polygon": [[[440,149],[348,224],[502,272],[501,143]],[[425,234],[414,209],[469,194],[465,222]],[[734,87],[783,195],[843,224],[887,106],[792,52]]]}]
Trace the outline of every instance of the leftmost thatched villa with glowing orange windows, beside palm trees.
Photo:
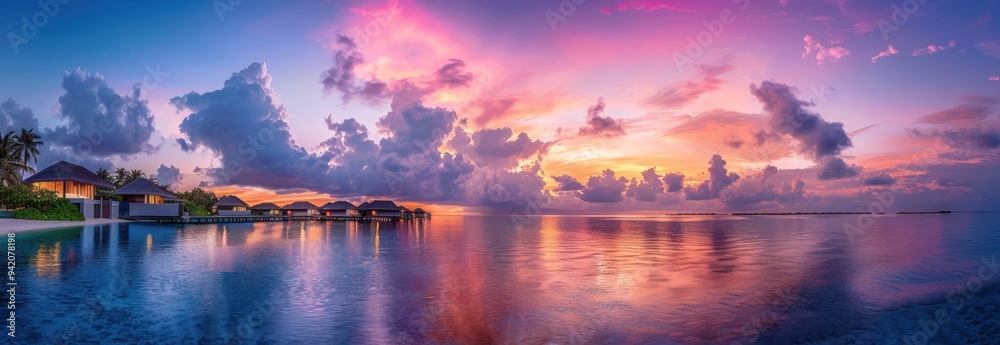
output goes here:
[{"label": "leftmost thatched villa with glowing orange windows, beside palm trees", "polygon": [[97,189],[115,189],[115,186],[82,166],[60,161],[23,182],[69,199],[70,203],[80,208],[86,219],[118,218],[118,202],[94,199]]}]

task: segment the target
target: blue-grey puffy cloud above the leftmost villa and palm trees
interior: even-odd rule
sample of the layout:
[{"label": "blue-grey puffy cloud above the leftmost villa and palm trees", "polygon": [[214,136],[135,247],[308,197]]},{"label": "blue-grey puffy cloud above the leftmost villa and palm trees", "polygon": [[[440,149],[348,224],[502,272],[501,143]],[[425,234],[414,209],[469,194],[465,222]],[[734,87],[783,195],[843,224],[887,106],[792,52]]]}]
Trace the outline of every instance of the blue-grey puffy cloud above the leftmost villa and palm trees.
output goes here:
[{"label": "blue-grey puffy cloud above the leftmost villa and palm trees", "polygon": [[141,87],[132,87],[131,95],[119,95],[100,74],[75,69],[63,75],[57,117],[65,125],[46,129],[44,136],[54,144],[73,148],[80,155],[109,157],[153,153],[149,144],[154,116]]}]

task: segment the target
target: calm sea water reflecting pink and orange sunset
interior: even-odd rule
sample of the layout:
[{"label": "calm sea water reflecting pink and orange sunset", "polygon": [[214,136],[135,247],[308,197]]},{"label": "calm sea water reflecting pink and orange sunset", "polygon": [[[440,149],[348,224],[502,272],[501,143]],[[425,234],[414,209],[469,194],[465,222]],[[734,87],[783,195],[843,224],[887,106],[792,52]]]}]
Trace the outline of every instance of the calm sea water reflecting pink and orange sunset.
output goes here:
[{"label": "calm sea water reflecting pink and orange sunset", "polygon": [[[998,213],[873,222],[853,238],[844,224],[857,215],[440,216],[20,234],[17,339],[749,344],[836,343],[860,332],[904,343],[927,310],[933,317],[949,290],[982,272],[983,258],[1000,254]],[[980,281],[986,287],[965,292],[968,310],[992,305],[983,302],[994,300],[1000,274]],[[983,341],[952,319],[929,339]]]}]

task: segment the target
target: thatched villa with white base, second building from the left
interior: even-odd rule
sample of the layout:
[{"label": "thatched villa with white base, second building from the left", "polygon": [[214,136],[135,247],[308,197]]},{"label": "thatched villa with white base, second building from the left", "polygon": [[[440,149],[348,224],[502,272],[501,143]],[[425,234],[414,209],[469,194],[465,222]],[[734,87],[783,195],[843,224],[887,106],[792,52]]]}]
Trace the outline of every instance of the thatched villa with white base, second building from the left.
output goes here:
[{"label": "thatched villa with white base, second building from the left", "polygon": [[122,197],[122,216],[176,218],[184,212],[184,200],[144,178],[118,188],[114,194]]}]

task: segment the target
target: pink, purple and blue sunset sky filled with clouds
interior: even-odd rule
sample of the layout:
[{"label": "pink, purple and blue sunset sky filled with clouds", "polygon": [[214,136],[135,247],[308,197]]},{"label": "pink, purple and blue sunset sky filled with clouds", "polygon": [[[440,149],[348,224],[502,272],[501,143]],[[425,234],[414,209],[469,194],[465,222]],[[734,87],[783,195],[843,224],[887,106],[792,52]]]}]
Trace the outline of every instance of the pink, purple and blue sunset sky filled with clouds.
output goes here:
[{"label": "pink, purple and blue sunset sky filled with clouds", "polygon": [[0,5],[38,166],[438,213],[995,210],[1000,1]]}]

